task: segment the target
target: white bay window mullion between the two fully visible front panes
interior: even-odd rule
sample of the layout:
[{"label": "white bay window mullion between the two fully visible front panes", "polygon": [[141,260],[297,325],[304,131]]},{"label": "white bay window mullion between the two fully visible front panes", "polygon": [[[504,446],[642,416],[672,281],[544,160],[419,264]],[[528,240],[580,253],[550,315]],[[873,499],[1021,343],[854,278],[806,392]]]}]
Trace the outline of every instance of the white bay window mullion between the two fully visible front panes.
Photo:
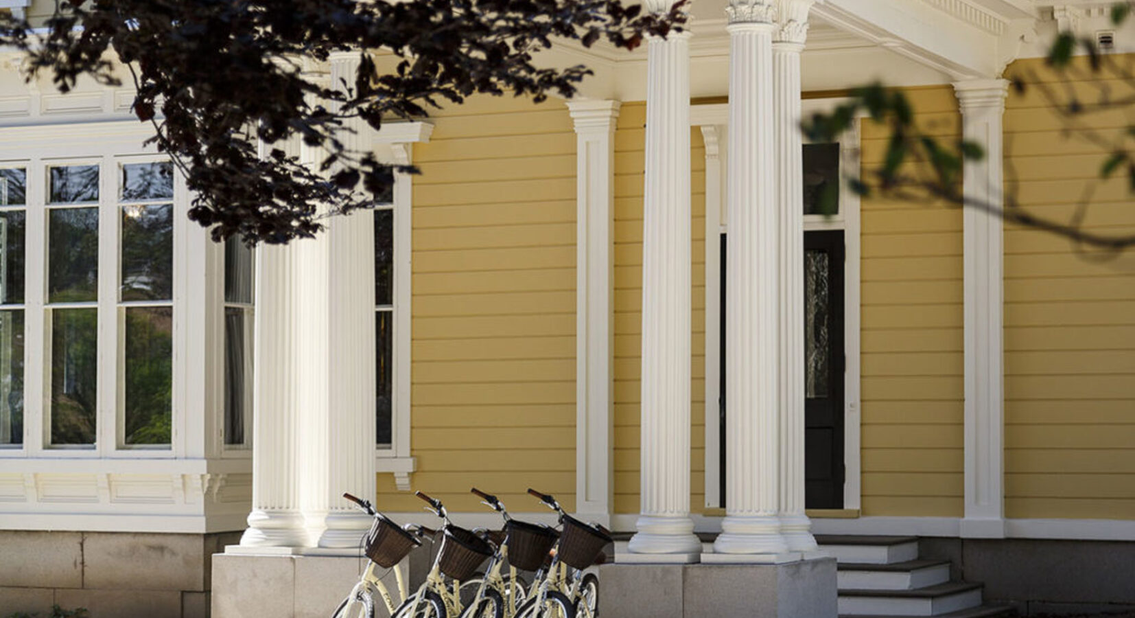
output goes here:
[{"label": "white bay window mullion between the two fully visible front panes", "polygon": [[98,343],[98,452],[106,457],[118,450],[121,437],[123,349],[121,316],[118,310],[118,175],[114,157],[102,159],[99,176],[99,343]]}]

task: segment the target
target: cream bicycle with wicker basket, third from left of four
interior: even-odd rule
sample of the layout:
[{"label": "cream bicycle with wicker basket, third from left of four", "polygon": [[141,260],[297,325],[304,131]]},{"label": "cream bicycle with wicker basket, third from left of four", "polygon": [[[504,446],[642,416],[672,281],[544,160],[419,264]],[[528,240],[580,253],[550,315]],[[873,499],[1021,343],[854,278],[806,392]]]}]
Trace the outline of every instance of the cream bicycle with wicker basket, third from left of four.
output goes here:
[{"label": "cream bicycle with wicker basket, third from left of four", "polygon": [[[471,488],[470,492],[480,496],[484,504],[501,513],[504,518],[504,528],[487,532],[490,542],[496,546],[496,552],[490,559],[485,575],[479,579],[462,584],[462,587],[476,586],[476,594],[470,600],[469,607],[478,609],[466,613],[469,618],[484,618],[486,616],[514,618],[528,595],[523,579],[516,569],[538,571],[558,534],[548,526],[513,519],[504,503],[493,494],[485,493],[477,487]],[[505,563],[508,565],[507,575],[502,573]],[[491,615],[486,615],[486,598],[490,598],[490,602],[499,610],[494,609]]]}]

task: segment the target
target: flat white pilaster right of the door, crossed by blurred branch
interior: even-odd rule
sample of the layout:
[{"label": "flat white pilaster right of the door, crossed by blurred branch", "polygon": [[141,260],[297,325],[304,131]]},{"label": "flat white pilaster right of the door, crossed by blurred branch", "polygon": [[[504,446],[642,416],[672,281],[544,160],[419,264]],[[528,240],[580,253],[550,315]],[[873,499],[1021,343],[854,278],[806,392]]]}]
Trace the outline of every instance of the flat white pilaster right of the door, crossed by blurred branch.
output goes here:
[{"label": "flat white pilaster right of the door, crossed by blurred branch", "polygon": [[[967,160],[967,202],[1002,204],[1001,116],[1009,83],[974,80],[953,84],[961,106],[962,139],[985,156]],[[965,291],[965,517],[961,536],[1004,536],[1003,241],[999,215],[962,210]]]}]

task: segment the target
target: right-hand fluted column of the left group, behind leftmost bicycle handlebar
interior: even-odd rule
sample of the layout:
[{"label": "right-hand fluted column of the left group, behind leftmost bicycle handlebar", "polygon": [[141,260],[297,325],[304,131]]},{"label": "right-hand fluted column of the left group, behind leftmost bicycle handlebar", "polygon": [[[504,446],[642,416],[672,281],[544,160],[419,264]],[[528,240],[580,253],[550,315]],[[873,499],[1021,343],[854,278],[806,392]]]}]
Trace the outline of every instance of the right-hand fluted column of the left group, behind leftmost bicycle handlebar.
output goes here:
[{"label": "right-hand fluted column of the left group, behind leftmost bicycle handlebar", "polygon": [[[334,53],[331,84],[353,84],[359,53]],[[339,139],[348,150],[373,148],[375,132],[352,118]],[[327,293],[321,297],[327,316],[328,385],[326,407],[326,478],[322,508],[326,529],[321,548],[358,548],[371,519],[343,500],[343,492],[375,500],[375,225],[373,214],[354,212],[327,223]]]}]

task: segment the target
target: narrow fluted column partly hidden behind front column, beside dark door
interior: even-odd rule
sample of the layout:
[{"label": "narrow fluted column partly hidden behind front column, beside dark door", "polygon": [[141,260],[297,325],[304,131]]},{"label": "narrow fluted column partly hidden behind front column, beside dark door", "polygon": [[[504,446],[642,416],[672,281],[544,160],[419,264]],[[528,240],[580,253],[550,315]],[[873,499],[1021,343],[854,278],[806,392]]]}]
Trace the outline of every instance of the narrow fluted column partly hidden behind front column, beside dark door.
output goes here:
[{"label": "narrow fluted column partly hidden behind front column, beside dark door", "polygon": [[804,512],[804,145],[800,52],[815,0],[780,0],[773,41],[776,209],[780,215],[781,534],[791,551],[818,548]]}]

